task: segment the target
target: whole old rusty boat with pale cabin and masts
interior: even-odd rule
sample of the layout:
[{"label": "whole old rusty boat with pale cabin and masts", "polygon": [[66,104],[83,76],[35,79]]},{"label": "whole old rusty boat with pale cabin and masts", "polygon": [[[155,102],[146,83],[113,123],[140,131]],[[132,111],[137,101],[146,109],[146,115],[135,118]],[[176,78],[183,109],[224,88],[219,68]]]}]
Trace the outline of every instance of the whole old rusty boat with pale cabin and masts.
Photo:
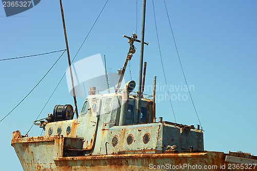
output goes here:
[{"label": "whole old rusty boat with pale cabin and masts", "polygon": [[[144,0],[145,6],[145,0]],[[145,9],[142,14],[145,13]],[[144,15],[143,15],[144,16]],[[143,17],[142,17],[143,18]],[[142,34],[144,35],[144,20]],[[120,80],[113,93],[92,87],[80,113],[71,105],[56,105],[36,121],[44,136],[12,134],[24,170],[257,170],[257,157],[204,149],[202,128],[156,119],[153,95],[142,93],[143,36],[125,36],[130,43]],[[120,89],[126,64],[141,43],[139,90],[135,81]],[[141,78],[140,78],[141,77]],[[154,85],[156,77],[154,78]],[[94,85],[92,85],[94,86]],[[77,108],[76,108],[77,109]],[[74,114],[77,114],[77,119]]]}]

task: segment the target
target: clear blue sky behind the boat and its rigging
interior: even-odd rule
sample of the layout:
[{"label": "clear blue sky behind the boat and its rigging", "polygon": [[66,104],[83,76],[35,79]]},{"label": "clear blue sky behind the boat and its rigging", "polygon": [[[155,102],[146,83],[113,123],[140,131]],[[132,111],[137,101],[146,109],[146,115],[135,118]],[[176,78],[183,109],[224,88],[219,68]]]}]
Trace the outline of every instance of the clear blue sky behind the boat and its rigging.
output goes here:
[{"label": "clear blue sky behind the boat and its rigging", "polygon": [[[63,1],[70,55],[73,58],[94,24],[105,1]],[[140,39],[141,5],[138,0],[138,35]],[[241,150],[257,155],[257,2],[248,1],[166,1],[179,55],[188,84],[194,87],[192,97],[204,127],[205,149],[211,151]],[[156,22],[168,86],[183,87],[182,71],[173,43],[163,1],[155,1]],[[65,49],[59,1],[41,1],[23,13],[6,17],[0,7],[0,59],[14,58]],[[107,69],[121,68],[127,53],[123,34],[136,31],[136,1],[109,0],[95,27],[78,53],[75,62],[87,56],[106,55]],[[146,85],[164,85],[159,57],[152,1],[146,4],[144,50]],[[139,49],[131,61],[132,79],[138,82]],[[0,61],[1,119],[39,82],[61,52],[20,60]],[[91,64],[88,64],[91,65]],[[68,66],[67,55],[30,96],[5,120],[2,130],[0,170],[22,170],[11,143],[12,131],[25,135],[39,115],[54,87]],[[85,66],[87,67],[87,66]],[[96,68],[97,71],[97,68]],[[125,80],[130,80],[127,70]],[[146,90],[146,93],[152,93]],[[158,90],[156,116],[174,122],[166,91]],[[188,92],[174,90],[173,107],[177,123],[198,124]],[[178,93],[187,100],[178,100]],[[175,99],[177,97],[177,99]],[[78,99],[79,110],[84,98]],[[56,104],[73,104],[66,80],[54,93],[40,118],[51,113]],[[33,126],[29,136],[41,134]]]}]

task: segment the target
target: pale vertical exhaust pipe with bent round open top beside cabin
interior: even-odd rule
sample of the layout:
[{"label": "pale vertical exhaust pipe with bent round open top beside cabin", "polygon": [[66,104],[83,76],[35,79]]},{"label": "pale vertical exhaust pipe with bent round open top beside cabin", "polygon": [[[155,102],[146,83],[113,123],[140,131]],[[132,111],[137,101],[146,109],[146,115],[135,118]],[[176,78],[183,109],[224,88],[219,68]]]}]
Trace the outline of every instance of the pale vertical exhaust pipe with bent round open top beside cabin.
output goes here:
[{"label": "pale vertical exhaust pipe with bent round open top beside cabin", "polygon": [[135,87],[136,87],[136,82],[133,80],[127,82],[126,85],[124,86],[123,94],[122,94],[121,109],[120,109],[119,126],[124,125],[126,122],[128,99],[130,98],[130,93],[134,90]]}]

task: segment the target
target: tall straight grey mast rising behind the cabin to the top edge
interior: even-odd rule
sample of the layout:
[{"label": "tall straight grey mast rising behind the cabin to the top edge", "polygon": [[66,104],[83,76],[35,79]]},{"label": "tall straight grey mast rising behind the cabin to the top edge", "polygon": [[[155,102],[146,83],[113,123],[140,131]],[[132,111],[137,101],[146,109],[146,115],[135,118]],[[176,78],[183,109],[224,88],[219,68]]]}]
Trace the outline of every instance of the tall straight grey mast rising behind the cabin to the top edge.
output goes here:
[{"label": "tall straight grey mast rising behind the cabin to the top edge", "polygon": [[138,79],[138,91],[137,91],[137,122],[138,123],[140,123],[140,119],[141,119],[141,96],[142,96],[142,70],[143,70],[143,50],[144,50],[145,6],[146,6],[146,0],[143,0],[141,46],[140,46],[140,63],[139,63],[139,79]]}]

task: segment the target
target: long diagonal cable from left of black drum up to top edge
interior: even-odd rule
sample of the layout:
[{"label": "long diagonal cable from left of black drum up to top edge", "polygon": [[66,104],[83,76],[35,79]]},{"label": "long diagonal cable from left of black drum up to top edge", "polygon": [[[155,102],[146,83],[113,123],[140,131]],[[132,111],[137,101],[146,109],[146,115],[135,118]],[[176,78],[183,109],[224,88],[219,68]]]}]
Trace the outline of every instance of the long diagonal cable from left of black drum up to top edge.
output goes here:
[{"label": "long diagonal cable from left of black drum up to top edge", "polygon": [[[104,9],[104,7],[106,6],[106,4],[107,4],[107,2],[108,2],[108,1],[109,1],[109,0],[107,0],[107,1],[106,1],[106,3],[104,4],[104,6],[103,6],[103,8],[102,8],[101,12],[99,13],[98,17],[96,18],[96,21],[94,22],[93,26],[90,28],[90,30],[89,30],[89,32],[87,33],[87,35],[86,35],[86,37],[85,37],[84,41],[83,41],[83,42],[82,42],[82,44],[81,44],[81,46],[80,46],[79,50],[77,51],[76,55],[75,55],[75,56],[74,56],[74,58],[72,59],[71,64],[72,64],[72,62],[75,60],[75,58],[76,58],[77,54],[79,53],[79,51],[80,51],[81,47],[83,46],[84,42],[86,41],[86,39],[87,39],[87,37],[88,37],[89,33],[91,32],[91,30],[92,30],[92,29],[93,29],[93,27],[95,26],[95,24],[96,24],[96,22],[97,22],[97,20],[98,20],[99,16],[101,15],[101,13],[102,13],[102,11],[103,11],[103,9]],[[65,74],[66,74],[66,72],[67,72],[67,70],[68,70],[68,68],[67,68],[67,69],[66,69],[66,71],[64,72],[64,74],[63,74],[62,78],[60,79],[59,83],[57,84],[56,88],[54,88],[54,90],[53,90],[53,92],[52,92],[51,96],[49,97],[49,99],[47,100],[47,102],[46,102],[45,106],[47,105],[47,103],[48,103],[48,102],[49,102],[49,100],[51,99],[51,97],[52,97],[53,93],[56,91],[56,89],[57,89],[57,88],[58,88],[58,86],[60,85],[61,81],[63,80],[63,78],[64,78],[64,76],[65,76]],[[42,109],[42,110],[41,110],[41,112],[39,113],[39,116],[36,118],[36,120],[40,117],[40,115],[41,115],[42,111],[44,110],[45,106],[43,107],[43,109]],[[0,121],[0,122],[1,122],[1,121]],[[33,124],[32,124],[32,126],[30,127],[30,129],[31,129],[32,127],[33,127]],[[29,133],[30,129],[28,130],[27,134]]]}]

